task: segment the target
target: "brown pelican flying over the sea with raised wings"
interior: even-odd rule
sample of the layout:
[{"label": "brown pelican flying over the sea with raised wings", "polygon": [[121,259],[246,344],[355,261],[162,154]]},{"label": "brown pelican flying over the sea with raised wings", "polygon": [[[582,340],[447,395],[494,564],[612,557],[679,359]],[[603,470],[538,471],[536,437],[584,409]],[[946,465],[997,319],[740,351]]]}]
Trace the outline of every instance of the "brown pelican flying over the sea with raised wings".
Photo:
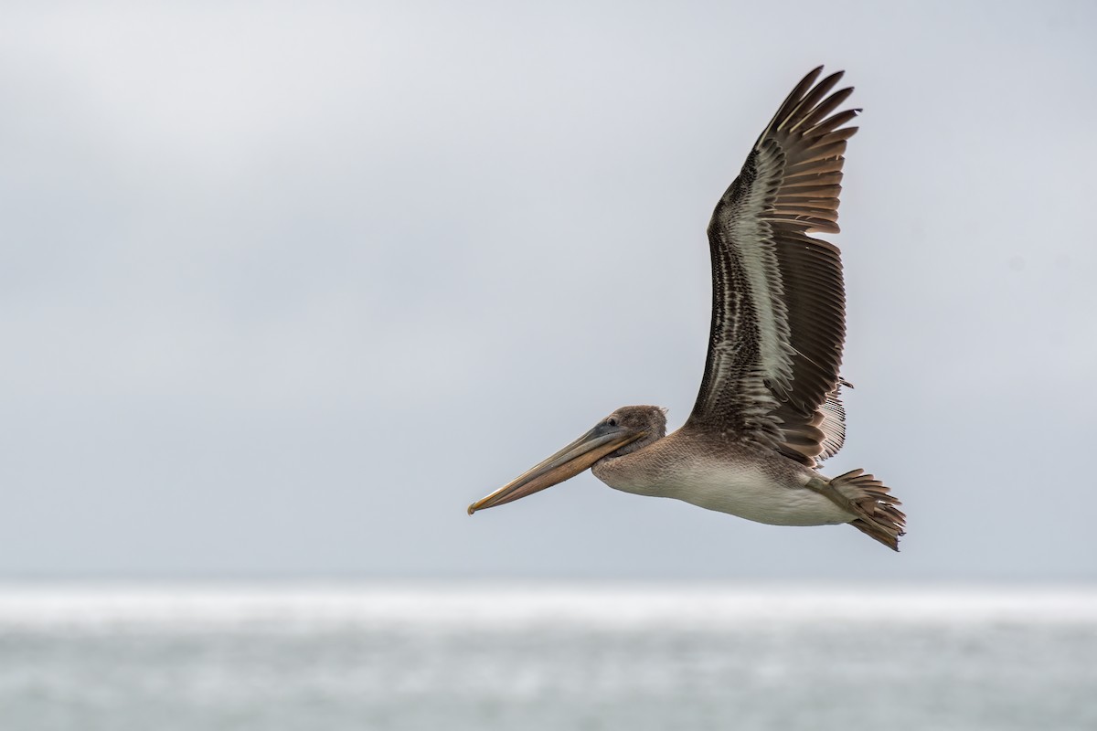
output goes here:
[{"label": "brown pelican flying over the sea with raised wings", "polygon": [[905,515],[886,487],[853,470],[826,478],[818,461],[845,441],[838,375],[846,338],[838,193],[860,110],[835,112],[842,72],[796,84],[709,222],[712,327],[701,391],[667,436],[666,411],[618,409],[490,495],[478,510],[533,494],[588,467],[611,488],[772,525],[848,523],[898,550]]}]

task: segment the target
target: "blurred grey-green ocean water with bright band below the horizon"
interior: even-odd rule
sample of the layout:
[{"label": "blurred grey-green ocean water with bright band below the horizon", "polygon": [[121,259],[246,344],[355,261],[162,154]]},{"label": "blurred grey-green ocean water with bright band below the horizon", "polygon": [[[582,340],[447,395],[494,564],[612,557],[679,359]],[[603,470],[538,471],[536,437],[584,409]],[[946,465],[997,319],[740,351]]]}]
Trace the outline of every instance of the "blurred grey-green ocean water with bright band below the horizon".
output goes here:
[{"label": "blurred grey-green ocean water with bright band below the horizon", "polygon": [[1097,729],[1097,590],[0,586],[0,729]]}]

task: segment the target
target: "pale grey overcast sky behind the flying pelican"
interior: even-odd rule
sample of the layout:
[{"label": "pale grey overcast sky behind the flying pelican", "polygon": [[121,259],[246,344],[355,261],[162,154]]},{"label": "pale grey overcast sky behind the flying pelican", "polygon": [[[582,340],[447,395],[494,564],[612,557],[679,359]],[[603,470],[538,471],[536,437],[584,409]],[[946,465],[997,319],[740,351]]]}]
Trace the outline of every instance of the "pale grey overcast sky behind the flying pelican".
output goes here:
[{"label": "pale grey overcast sky behind the flying pelican", "polygon": [[[1097,5],[4,3],[0,578],[1095,580]],[[613,491],[697,395],[704,229],[818,64],[845,449],[895,555]]]}]

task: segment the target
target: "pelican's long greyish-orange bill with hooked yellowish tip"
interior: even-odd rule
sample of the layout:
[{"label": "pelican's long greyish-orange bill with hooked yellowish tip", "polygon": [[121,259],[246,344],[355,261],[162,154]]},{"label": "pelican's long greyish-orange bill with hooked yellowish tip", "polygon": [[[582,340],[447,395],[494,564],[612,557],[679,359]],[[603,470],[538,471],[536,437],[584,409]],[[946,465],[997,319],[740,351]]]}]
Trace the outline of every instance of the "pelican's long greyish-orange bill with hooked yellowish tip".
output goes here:
[{"label": "pelican's long greyish-orange bill with hooked yellowish tip", "polygon": [[606,455],[646,435],[647,432],[635,432],[618,425],[611,426],[601,423],[487,498],[474,502],[468,506],[468,514],[472,515],[478,510],[513,502],[558,484],[575,477]]}]

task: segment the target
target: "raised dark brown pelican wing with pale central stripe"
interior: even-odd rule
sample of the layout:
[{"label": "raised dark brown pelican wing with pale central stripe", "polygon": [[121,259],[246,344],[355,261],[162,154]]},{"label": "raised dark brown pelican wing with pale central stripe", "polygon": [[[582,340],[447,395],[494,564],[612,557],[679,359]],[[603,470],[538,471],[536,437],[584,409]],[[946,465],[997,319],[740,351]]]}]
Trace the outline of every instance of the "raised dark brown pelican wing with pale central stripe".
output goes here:
[{"label": "raised dark brown pelican wing with pale central stripe", "polygon": [[[687,426],[756,439],[814,466],[845,437],[838,399],[846,302],[837,247],[844,127],[841,72],[808,73],[755,142],[709,224],[712,329]],[[813,85],[814,84],[814,85]]]}]

